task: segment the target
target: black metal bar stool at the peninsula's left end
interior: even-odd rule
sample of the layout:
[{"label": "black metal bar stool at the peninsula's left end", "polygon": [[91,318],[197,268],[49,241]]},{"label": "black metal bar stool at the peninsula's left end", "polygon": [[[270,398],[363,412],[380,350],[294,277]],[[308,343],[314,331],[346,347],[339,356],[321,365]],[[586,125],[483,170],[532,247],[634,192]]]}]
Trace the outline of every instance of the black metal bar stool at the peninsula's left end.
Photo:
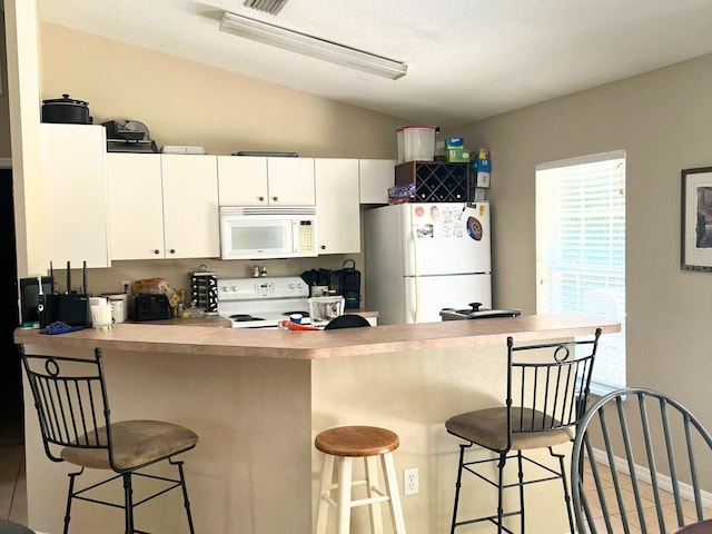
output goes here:
[{"label": "black metal bar stool at the peninsula's left end", "polygon": [[[34,399],[44,452],[52,462],[68,462],[79,467],[68,474],[69,490],[63,534],[69,532],[75,500],[123,510],[125,533],[147,534],[134,525],[134,510],[172,490],[182,493],[188,530],[195,532],[181,459],[198,435],[180,425],[162,421],[110,418],[101,349],[93,359],[65,356],[28,355],[20,346],[22,365]],[[147,466],[166,461],[175,466],[172,476],[144,472]],[[77,490],[77,477],[85,468],[111,472],[102,482]],[[148,496],[134,498],[134,481],[154,481]],[[113,481],[123,483],[123,503],[107,501],[95,490]],[[100,528],[99,528],[100,530]]]}]

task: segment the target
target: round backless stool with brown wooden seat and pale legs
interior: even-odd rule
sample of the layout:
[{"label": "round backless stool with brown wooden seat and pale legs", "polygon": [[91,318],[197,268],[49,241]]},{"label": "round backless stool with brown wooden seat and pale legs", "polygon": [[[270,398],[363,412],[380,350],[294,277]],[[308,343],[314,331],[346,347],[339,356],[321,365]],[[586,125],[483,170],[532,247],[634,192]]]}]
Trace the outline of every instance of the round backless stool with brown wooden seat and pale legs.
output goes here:
[{"label": "round backless stool with brown wooden seat and pale legs", "polygon": [[[400,508],[400,494],[396,468],[393,463],[393,452],[398,448],[398,436],[386,428],[375,426],[339,426],[322,432],[314,445],[325,454],[324,469],[322,471],[322,485],[319,487],[319,508],[316,520],[316,534],[326,533],[326,523],[329,506],[338,512],[338,534],[349,532],[352,508],[369,505],[370,526],[374,533],[383,532],[380,516],[380,503],[387,502],[390,508],[390,518],[397,534],[405,534],[405,522]],[[386,482],[386,491],[378,488],[378,464]],[[338,475],[333,482],[334,459],[338,458]],[[353,459],[364,458],[366,478],[352,478]],[[366,484],[366,498],[353,500],[352,487]],[[338,490],[336,501],[332,498],[332,491]]]}]

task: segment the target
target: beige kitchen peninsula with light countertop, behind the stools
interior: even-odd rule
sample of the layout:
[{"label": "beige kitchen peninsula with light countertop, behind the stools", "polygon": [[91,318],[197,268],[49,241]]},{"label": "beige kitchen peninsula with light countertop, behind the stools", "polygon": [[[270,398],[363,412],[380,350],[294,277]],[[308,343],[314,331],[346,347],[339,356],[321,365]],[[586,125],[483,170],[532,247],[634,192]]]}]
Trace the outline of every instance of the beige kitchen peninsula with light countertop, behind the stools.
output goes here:
[{"label": "beige kitchen peninsula with light countertop, behind the stools", "polygon": [[[18,329],[14,340],[29,354],[90,356],[101,347],[113,421],[166,419],[200,436],[185,455],[196,532],[310,533],[322,467],[314,436],[367,424],[399,435],[397,472],[419,471],[419,493],[403,497],[406,526],[432,534],[447,530],[457,465],[457,441],[444,421],[502,400],[506,337],[528,343],[589,336],[596,327],[620,332],[602,319],[520,316],[324,332],[119,324],[59,336]],[[27,392],[24,398],[29,525],[61,532],[70,467],[46,458]],[[552,504],[531,514],[531,532],[564,532],[560,500],[540,502]],[[97,524],[106,534],[121,531],[120,511],[113,521],[97,508],[76,505],[73,534],[93,533]],[[184,532],[179,497],[142,508],[140,528]],[[362,532],[367,515],[356,512]]]}]

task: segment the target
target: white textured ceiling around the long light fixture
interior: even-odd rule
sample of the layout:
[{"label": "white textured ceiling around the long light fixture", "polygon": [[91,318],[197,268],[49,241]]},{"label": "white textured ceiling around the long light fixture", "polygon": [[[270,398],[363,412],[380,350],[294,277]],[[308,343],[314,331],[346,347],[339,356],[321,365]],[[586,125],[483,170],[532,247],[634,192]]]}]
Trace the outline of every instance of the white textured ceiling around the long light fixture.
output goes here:
[{"label": "white textured ceiling around the long light fixture", "polygon": [[[402,117],[465,125],[712,52],[712,0],[38,0],[42,21]],[[404,61],[392,81],[218,31],[224,11]]]}]

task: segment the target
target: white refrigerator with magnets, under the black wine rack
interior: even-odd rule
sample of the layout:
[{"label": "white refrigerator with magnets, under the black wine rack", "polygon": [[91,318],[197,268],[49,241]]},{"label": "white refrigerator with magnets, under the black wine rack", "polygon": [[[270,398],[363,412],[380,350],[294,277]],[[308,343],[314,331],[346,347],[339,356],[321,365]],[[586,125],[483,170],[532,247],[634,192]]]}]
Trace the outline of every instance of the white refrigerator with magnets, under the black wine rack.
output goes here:
[{"label": "white refrigerator with magnets, under the black wine rack", "polygon": [[492,308],[490,204],[413,202],[365,212],[366,306],[378,325]]}]

